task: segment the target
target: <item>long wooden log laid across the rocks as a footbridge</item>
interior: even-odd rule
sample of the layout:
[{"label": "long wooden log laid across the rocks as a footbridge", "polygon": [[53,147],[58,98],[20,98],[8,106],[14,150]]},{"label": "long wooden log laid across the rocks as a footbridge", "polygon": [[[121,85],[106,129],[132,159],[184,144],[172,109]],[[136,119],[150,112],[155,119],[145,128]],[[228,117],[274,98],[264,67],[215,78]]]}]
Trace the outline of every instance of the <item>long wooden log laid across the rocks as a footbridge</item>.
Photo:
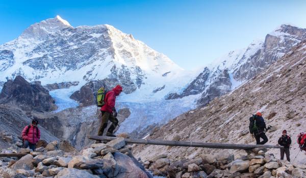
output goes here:
[{"label": "long wooden log laid across the rocks as a footbridge", "polygon": [[[108,136],[89,136],[89,139],[111,141],[117,139],[116,137]],[[152,140],[152,139],[133,139],[125,138],[125,143],[136,143],[136,144],[155,144],[155,145],[167,145],[167,146],[190,146],[190,147],[208,147],[212,149],[237,149],[237,150],[249,150],[258,147],[266,147],[273,149],[281,149],[283,146],[278,145],[265,145],[265,144],[227,144],[227,143],[203,143],[203,142],[192,142],[192,141],[172,141],[172,140]]]}]

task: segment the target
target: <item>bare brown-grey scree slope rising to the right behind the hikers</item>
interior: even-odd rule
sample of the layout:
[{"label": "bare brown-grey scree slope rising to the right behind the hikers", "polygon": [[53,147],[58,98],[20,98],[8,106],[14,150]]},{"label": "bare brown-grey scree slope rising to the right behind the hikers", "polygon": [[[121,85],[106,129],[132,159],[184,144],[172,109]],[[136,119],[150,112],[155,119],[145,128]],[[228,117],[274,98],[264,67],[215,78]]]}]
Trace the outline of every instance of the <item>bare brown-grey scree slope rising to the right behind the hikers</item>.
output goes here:
[{"label": "bare brown-grey scree slope rising to the right behind the hikers", "polygon": [[[261,111],[266,124],[273,126],[267,132],[267,144],[277,144],[283,130],[292,137],[291,159],[299,149],[297,134],[305,132],[306,115],[306,41],[300,42],[267,70],[254,76],[229,94],[215,98],[205,107],[199,107],[177,116],[156,129],[148,139],[190,140],[252,144],[248,130],[251,114]],[[192,159],[199,155],[216,154],[223,150],[194,147],[167,147],[139,145],[134,153],[142,160],[156,154],[167,154],[169,159]],[[243,152],[235,151],[235,156]],[[279,151],[268,153],[279,158]],[[295,162],[305,163],[300,155]]]}]

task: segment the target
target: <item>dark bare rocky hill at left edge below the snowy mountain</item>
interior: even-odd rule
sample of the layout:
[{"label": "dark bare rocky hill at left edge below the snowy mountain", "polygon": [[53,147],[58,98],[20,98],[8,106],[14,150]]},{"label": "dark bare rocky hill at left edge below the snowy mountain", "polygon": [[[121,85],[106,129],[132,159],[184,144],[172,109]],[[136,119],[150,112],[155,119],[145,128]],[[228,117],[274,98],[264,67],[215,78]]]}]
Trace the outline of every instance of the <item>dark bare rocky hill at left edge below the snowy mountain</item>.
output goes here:
[{"label": "dark bare rocky hill at left edge below the snowy mountain", "polygon": [[40,82],[29,83],[21,76],[4,83],[0,104],[14,105],[24,111],[48,112],[57,109],[55,100]]}]

